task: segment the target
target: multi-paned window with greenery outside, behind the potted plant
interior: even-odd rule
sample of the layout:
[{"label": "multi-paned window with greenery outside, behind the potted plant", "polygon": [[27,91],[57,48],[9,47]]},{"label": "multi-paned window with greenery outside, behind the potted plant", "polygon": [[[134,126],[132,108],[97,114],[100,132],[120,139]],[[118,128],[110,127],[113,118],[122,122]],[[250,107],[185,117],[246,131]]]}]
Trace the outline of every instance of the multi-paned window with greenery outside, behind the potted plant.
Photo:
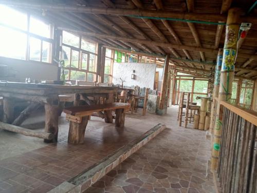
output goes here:
[{"label": "multi-paned window with greenery outside, behind the potted plant", "polygon": [[96,80],[96,43],[63,31],[62,60],[65,79],[94,82]]}]

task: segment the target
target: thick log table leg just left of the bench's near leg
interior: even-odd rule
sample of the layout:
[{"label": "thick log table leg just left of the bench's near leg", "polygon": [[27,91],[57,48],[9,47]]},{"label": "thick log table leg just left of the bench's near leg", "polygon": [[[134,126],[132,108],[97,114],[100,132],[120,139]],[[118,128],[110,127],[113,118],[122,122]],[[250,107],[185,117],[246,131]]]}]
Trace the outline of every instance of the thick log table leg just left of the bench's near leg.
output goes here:
[{"label": "thick log table leg just left of the bench's near leg", "polygon": [[58,120],[60,114],[59,105],[51,105],[45,103],[45,132],[53,133],[54,138],[52,140],[44,139],[44,142],[51,143],[58,141]]}]

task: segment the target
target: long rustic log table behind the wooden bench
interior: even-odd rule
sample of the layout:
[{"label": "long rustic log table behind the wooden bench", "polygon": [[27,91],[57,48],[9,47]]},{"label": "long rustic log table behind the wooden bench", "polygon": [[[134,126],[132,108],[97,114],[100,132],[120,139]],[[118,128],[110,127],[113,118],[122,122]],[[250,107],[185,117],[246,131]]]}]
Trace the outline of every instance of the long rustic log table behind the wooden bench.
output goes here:
[{"label": "long rustic log table behind the wooden bench", "polygon": [[[117,94],[117,89],[118,87],[114,86],[75,86],[0,81],[0,96],[4,97],[3,122],[19,126],[25,118],[27,118],[29,110],[38,108],[37,104],[44,105],[46,115],[45,132],[54,134],[53,139],[45,138],[44,140],[45,142],[57,142],[58,119],[63,110],[59,95],[75,94],[75,106],[80,105],[81,99],[87,104],[94,104],[94,101],[92,102],[87,97],[95,96],[102,97],[103,103],[112,103],[114,102],[114,95]],[[13,107],[17,100],[29,101],[31,104],[21,113],[21,115],[15,118]],[[112,111],[104,112],[104,115],[105,122],[113,122]],[[10,127],[12,126],[10,125]]]}]

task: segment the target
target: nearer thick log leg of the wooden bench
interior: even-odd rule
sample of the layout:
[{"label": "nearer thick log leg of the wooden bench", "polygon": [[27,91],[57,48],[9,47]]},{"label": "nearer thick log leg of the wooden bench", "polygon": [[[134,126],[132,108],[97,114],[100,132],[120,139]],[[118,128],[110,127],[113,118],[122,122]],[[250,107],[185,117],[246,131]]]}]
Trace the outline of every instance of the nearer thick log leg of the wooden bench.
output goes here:
[{"label": "nearer thick log leg of the wooden bench", "polygon": [[69,122],[69,135],[68,135],[68,143],[69,144],[83,144],[85,137],[86,125],[88,122],[88,117],[82,117],[80,123],[78,122]]}]

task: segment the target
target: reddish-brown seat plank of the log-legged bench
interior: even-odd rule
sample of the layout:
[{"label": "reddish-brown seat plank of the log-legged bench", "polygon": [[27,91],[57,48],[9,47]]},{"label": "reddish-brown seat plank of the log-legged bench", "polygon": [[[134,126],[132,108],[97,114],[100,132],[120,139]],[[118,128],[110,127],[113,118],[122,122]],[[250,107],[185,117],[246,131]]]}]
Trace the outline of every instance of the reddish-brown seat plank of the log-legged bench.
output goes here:
[{"label": "reddish-brown seat plank of the log-legged bench", "polygon": [[107,103],[107,104],[93,104],[90,106],[68,107],[68,108],[65,108],[63,111],[69,115],[87,116],[97,111],[130,109],[130,107],[131,107],[131,104],[129,103],[113,102],[113,103]]}]

